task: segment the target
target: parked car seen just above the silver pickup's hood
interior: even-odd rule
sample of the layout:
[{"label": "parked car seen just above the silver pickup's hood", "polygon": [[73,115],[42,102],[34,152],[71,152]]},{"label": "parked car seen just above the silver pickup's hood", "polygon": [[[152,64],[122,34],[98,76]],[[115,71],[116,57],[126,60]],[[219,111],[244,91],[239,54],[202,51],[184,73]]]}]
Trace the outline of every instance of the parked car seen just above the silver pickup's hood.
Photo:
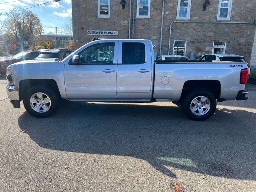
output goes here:
[{"label": "parked car seen just above the silver pickup's hood", "polygon": [[40,55],[35,59],[50,59],[50,58],[65,58],[74,50],[69,49],[53,49],[48,51],[41,51]]}]

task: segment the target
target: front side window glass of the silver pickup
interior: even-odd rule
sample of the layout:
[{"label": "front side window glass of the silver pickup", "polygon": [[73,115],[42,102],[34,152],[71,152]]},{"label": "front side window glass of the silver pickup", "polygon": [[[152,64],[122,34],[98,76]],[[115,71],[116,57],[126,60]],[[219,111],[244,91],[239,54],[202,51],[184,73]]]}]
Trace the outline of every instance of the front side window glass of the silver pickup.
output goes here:
[{"label": "front side window glass of the silver pickup", "polygon": [[113,64],[115,43],[98,43],[80,52],[80,64]]}]

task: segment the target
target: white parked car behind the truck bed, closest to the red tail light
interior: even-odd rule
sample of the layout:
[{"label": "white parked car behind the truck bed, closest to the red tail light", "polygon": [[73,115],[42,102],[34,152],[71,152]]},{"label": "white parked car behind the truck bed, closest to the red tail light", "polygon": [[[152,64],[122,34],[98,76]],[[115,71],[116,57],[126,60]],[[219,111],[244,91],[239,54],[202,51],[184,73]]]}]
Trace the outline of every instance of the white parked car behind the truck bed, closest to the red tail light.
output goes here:
[{"label": "white parked car behind the truck bed, closest to the red tail light", "polygon": [[216,60],[216,61],[234,61],[234,62],[246,62],[243,56],[234,54],[205,54],[198,60]]}]

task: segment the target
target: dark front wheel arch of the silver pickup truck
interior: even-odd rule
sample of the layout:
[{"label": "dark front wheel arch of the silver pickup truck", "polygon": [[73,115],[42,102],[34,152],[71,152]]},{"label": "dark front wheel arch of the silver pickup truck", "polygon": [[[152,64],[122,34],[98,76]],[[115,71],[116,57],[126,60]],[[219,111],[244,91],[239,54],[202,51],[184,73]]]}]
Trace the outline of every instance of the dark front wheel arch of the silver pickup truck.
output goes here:
[{"label": "dark front wheel arch of the silver pickup truck", "polygon": [[58,97],[60,97],[60,91],[58,88],[58,84],[53,79],[27,79],[27,80],[21,80],[19,83],[19,98],[20,100],[24,99],[24,94],[27,90],[34,86],[46,86],[47,88],[50,88],[52,91],[54,91]]}]

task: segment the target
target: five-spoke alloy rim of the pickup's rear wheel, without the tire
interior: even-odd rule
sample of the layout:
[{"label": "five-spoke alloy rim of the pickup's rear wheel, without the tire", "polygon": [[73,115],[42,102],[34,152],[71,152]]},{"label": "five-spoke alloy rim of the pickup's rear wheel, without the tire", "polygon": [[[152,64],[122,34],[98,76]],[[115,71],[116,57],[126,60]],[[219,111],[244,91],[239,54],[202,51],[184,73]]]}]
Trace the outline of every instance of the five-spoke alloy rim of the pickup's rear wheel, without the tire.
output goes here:
[{"label": "five-spoke alloy rim of the pickup's rear wheel, without the tire", "polygon": [[210,100],[205,96],[197,96],[190,103],[190,110],[193,114],[201,116],[210,110]]}]

